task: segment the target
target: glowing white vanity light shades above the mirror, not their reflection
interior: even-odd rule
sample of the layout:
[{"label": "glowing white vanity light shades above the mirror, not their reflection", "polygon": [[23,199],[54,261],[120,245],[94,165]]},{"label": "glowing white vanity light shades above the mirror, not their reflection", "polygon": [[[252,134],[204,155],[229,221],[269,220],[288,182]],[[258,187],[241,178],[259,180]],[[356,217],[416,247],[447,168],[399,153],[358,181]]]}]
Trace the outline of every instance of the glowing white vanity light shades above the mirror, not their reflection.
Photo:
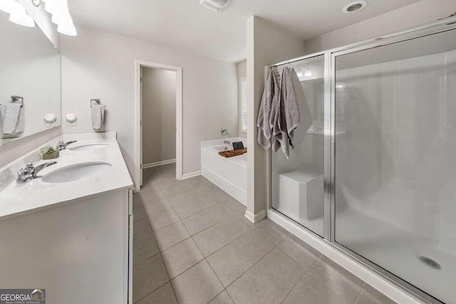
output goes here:
[{"label": "glowing white vanity light shades above the mirror, not their reflection", "polygon": [[52,15],[52,22],[57,24],[58,33],[68,36],[77,36],[76,26],[68,10],[68,0],[31,0],[33,5],[38,7],[44,5],[44,9]]}]

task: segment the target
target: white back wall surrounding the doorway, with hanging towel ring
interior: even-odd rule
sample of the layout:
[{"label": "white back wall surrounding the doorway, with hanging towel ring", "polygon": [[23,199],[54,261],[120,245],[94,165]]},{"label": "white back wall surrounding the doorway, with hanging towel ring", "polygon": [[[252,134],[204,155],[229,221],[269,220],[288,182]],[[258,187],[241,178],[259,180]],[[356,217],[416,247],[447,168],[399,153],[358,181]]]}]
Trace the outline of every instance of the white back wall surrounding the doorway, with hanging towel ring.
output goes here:
[{"label": "white back wall surrounding the doorway, with hanging towel ring", "polygon": [[118,132],[130,173],[135,161],[135,60],[183,68],[183,173],[200,169],[200,142],[237,136],[237,70],[234,63],[192,56],[103,31],[78,27],[78,37],[61,37],[62,112],[75,112],[78,124],[66,133],[93,132],[90,98],[107,106],[106,131]]}]

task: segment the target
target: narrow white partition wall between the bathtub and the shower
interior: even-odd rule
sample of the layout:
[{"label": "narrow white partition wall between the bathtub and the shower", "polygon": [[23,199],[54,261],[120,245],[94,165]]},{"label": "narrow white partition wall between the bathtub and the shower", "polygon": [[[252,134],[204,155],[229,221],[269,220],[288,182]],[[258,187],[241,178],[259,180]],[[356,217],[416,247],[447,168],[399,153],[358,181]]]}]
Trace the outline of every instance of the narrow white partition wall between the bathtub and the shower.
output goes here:
[{"label": "narrow white partition wall between the bathtub and the shower", "polygon": [[257,144],[257,117],[264,90],[264,66],[304,53],[304,41],[300,38],[258,16],[247,20],[247,216],[261,213],[266,206],[266,152]]}]

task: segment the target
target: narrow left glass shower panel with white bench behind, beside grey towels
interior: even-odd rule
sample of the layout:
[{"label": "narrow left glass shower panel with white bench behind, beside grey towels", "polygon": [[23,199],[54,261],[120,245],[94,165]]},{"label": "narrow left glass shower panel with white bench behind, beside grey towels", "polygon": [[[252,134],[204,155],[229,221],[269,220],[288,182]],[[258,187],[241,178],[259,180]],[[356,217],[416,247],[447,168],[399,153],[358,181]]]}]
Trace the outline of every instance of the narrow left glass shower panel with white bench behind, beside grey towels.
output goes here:
[{"label": "narrow left glass shower panel with white bench behind, beside grey towels", "polygon": [[[301,88],[301,125],[287,159],[271,152],[271,207],[323,237],[324,56],[291,64]],[[279,68],[280,69],[280,68]]]}]

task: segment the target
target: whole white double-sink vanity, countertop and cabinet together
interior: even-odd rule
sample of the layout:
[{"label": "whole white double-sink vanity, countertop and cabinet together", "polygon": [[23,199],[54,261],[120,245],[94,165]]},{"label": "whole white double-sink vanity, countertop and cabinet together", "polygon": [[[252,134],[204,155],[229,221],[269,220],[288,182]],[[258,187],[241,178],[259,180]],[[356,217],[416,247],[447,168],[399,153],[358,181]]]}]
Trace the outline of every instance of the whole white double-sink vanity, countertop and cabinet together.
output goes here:
[{"label": "whole white double-sink vanity, countertop and cabinet together", "polygon": [[47,303],[131,303],[133,182],[115,132],[59,140],[77,142],[35,179],[16,172],[36,151],[0,169],[0,286],[44,288]]}]

